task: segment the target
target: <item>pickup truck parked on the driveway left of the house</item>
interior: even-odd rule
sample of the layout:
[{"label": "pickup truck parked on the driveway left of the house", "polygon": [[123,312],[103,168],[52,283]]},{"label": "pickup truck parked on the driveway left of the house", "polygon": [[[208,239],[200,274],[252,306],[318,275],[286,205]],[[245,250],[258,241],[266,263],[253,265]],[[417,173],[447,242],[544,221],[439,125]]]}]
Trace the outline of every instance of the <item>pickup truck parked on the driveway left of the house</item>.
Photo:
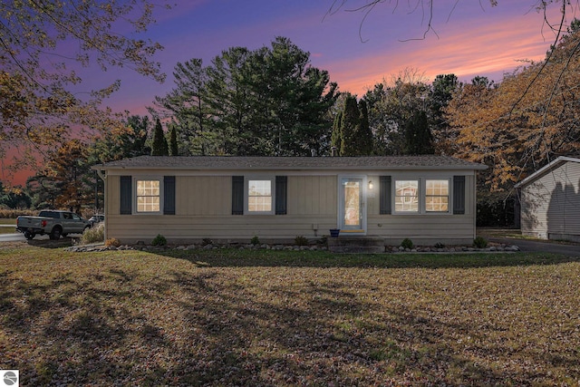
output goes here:
[{"label": "pickup truck parked on the driveway left of the house", "polygon": [[66,237],[68,234],[82,234],[91,227],[86,219],[70,211],[44,209],[38,217],[16,218],[16,230],[24,234],[26,239],[32,239],[36,234],[48,234],[51,239]]}]

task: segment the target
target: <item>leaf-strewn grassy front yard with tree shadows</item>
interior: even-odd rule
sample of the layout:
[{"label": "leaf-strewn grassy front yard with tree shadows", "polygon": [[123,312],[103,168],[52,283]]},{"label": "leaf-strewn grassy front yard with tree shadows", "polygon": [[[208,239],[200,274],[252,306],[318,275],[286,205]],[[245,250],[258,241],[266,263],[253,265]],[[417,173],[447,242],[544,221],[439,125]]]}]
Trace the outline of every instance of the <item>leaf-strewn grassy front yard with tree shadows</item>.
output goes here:
[{"label": "leaf-strewn grassy front yard with tree shadows", "polygon": [[569,385],[580,262],[0,248],[21,385]]}]

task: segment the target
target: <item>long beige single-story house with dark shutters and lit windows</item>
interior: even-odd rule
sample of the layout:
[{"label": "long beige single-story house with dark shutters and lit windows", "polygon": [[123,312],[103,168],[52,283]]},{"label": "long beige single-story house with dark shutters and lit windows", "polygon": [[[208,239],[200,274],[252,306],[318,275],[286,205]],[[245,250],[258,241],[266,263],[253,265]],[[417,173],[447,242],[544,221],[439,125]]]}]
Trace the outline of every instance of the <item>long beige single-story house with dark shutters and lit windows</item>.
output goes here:
[{"label": "long beige single-story house with dark shutters and lit windows", "polygon": [[482,164],[444,156],[160,157],[96,165],[106,237],[121,243],[270,243],[295,237],[409,237],[471,244]]}]

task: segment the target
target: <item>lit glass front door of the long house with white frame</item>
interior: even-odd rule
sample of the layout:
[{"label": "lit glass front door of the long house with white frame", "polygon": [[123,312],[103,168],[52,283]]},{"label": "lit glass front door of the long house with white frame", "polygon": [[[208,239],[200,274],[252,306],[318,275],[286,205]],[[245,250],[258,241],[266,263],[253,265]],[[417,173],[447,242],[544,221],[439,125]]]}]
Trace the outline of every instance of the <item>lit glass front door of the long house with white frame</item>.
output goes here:
[{"label": "lit glass front door of the long house with white frame", "polygon": [[341,233],[365,233],[366,210],[362,178],[341,178],[339,227]]}]

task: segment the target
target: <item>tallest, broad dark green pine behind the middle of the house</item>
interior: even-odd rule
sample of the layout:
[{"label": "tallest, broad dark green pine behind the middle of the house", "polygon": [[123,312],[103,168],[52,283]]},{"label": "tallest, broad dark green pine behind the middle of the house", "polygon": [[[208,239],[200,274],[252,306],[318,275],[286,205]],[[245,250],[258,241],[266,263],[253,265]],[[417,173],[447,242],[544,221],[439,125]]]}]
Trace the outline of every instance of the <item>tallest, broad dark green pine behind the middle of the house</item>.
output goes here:
[{"label": "tallest, broad dark green pine behind the middle of the house", "polygon": [[178,63],[176,88],[156,97],[156,104],[179,133],[189,131],[191,153],[323,153],[337,85],[309,58],[289,39],[276,37],[270,47],[254,51],[229,48],[205,68],[195,59]]}]

